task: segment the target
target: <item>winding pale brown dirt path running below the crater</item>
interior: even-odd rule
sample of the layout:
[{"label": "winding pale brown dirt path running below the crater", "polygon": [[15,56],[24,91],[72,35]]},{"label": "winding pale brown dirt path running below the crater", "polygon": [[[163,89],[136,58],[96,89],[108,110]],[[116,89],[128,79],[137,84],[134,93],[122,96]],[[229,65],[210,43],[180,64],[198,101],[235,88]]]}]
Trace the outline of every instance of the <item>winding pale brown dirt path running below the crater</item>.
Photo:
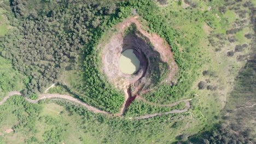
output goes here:
[{"label": "winding pale brown dirt path running below the crater", "polygon": [[[0,101],[0,105],[2,105],[3,103],[5,103],[5,101],[7,101],[8,98],[10,98],[11,96],[13,95],[22,95],[20,92],[17,92],[17,91],[13,91],[13,92],[9,92],[7,97],[4,97],[4,99],[2,101]],[[52,99],[52,98],[60,98],[60,99],[66,99],[66,100],[70,100],[70,101],[73,101],[77,104],[80,104],[80,105],[83,105],[85,106],[88,110],[92,111],[92,112],[95,112],[95,113],[104,113],[104,114],[107,114],[107,115],[112,115],[112,116],[121,116],[124,114],[125,112],[125,104],[127,103],[127,95],[126,95],[126,100],[125,100],[125,103],[123,104],[123,106],[121,106],[121,109],[120,109],[120,112],[113,115],[112,113],[110,112],[106,112],[106,111],[102,111],[102,110],[99,110],[97,109],[96,107],[93,107],[93,106],[90,106],[86,103],[84,103],[83,101],[77,99],[77,98],[74,98],[74,97],[71,97],[70,95],[61,95],[61,94],[39,94],[39,98],[37,100],[32,100],[32,99],[28,99],[28,98],[25,98],[28,102],[30,103],[37,103],[39,100],[43,100],[43,99]],[[168,104],[168,105],[159,105],[159,104],[154,104],[154,103],[151,103],[149,101],[147,101],[146,99],[143,99],[142,97],[137,97],[138,99],[142,99],[143,101],[145,101],[146,103],[148,104],[152,104],[152,105],[158,105],[158,106],[174,106],[174,105],[177,105],[181,102],[185,102],[185,106],[183,107],[183,110],[173,110],[173,111],[168,111],[168,112],[163,112],[163,113],[154,113],[154,114],[151,114],[151,115],[145,115],[145,116],[140,116],[140,117],[133,117],[133,118],[129,118],[129,119],[146,119],[146,118],[150,118],[150,117],[155,117],[155,116],[159,116],[159,115],[168,115],[170,113],[182,113],[182,112],[185,112],[185,111],[188,111],[188,109],[190,108],[190,103],[189,101],[191,99],[188,99],[188,100],[181,100],[181,101],[178,101],[177,103],[173,103],[173,104]]]}]

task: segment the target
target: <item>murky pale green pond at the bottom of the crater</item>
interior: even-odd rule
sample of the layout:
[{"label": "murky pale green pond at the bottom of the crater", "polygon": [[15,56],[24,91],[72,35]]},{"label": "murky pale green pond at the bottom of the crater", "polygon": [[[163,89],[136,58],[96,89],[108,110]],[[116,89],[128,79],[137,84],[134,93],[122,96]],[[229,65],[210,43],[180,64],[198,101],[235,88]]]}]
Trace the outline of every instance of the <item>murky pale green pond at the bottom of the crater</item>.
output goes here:
[{"label": "murky pale green pond at the bottom of the crater", "polygon": [[125,50],[121,53],[119,60],[119,69],[125,74],[134,74],[139,69],[139,59],[133,53],[133,50]]}]

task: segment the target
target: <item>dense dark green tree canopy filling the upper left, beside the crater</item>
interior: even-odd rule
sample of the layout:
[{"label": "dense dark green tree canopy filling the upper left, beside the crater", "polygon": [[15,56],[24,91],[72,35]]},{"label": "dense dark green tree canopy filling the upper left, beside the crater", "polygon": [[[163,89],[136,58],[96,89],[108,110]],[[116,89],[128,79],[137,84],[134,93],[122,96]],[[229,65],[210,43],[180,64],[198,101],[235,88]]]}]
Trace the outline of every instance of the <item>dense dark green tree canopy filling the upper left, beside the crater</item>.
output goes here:
[{"label": "dense dark green tree canopy filling the upper left, beside the crater", "polygon": [[[33,4],[38,8],[31,8]],[[16,17],[12,25],[17,28],[1,39],[1,55],[29,77],[23,92],[27,96],[44,92],[60,80],[64,70],[79,69],[78,61],[86,57],[83,52],[92,51],[90,45],[97,39],[98,25],[113,16],[117,8],[114,3],[95,1],[12,1],[10,5]],[[101,86],[100,81],[95,83],[94,87],[110,89]],[[102,93],[102,97],[112,96]]]}]

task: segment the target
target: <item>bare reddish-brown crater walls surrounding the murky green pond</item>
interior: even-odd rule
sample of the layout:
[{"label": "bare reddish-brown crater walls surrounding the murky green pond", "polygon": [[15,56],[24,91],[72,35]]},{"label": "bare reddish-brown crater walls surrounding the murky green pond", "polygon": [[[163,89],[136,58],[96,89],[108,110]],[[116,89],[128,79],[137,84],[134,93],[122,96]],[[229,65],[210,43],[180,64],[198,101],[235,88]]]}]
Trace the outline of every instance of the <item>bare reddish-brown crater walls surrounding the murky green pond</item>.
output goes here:
[{"label": "bare reddish-brown crater walls surrounding the murky green pond", "polygon": [[[131,102],[129,99],[134,99],[133,95],[160,82],[173,85],[178,73],[170,45],[159,35],[145,31],[145,26],[138,19],[138,16],[130,17],[119,23],[109,32],[110,37],[99,45],[101,70],[116,88],[125,92],[124,110]],[[119,68],[121,53],[129,49],[139,59],[139,69],[134,74],[125,74]]]}]

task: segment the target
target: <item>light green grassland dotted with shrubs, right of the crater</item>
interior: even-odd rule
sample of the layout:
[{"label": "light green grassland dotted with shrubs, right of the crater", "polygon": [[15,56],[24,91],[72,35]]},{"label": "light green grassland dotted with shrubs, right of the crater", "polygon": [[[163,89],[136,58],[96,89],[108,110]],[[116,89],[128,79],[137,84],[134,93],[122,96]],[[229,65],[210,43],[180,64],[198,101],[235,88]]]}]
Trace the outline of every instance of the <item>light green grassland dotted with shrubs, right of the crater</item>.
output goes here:
[{"label": "light green grassland dotted with shrubs, right of the crater", "polygon": [[[208,20],[202,19],[199,15],[207,8],[213,7],[212,4],[214,2],[208,4],[199,1],[194,2],[197,3],[197,8],[193,10],[184,9],[185,7],[188,7],[188,5],[184,2],[183,5],[178,5],[176,1],[169,1],[168,5],[161,7],[161,14],[167,17],[167,21],[170,25],[173,25],[178,28],[179,31],[184,32],[184,37],[190,40],[195,40],[194,37],[196,35],[196,37],[199,38],[197,39],[199,41],[196,41],[197,47],[202,47],[205,57],[205,64],[201,68],[201,73],[199,74],[200,78],[197,82],[193,83],[192,91],[194,91],[194,103],[196,103],[195,110],[192,111],[194,116],[187,116],[184,120],[185,123],[190,123],[190,125],[194,126],[184,130],[184,133],[188,134],[195,134],[205,125],[211,125],[211,123],[218,121],[218,113],[226,104],[229,92],[234,86],[232,83],[234,83],[235,77],[238,74],[237,71],[245,65],[245,61],[237,61],[236,58],[241,55],[248,55],[250,50],[249,47],[246,47],[242,52],[237,52],[232,57],[228,57],[227,53],[229,51],[234,51],[236,45],[249,45],[251,40],[246,39],[244,35],[253,31],[252,28],[249,28],[250,24],[247,22],[247,27],[243,29],[243,31],[235,34],[235,37],[237,38],[235,43],[229,43],[228,40],[224,40],[224,48],[222,48],[220,52],[216,52],[216,46],[206,43],[206,41],[209,41],[208,38],[212,37],[212,33],[224,34],[225,37],[228,37],[228,35],[226,35],[226,30],[231,29],[234,22],[241,20],[241,18],[234,10],[227,10],[223,15],[219,13],[219,11],[216,11],[216,9],[210,9],[207,13],[210,13],[214,19],[211,21],[212,25],[206,26],[205,22],[208,23]],[[248,15],[247,19],[249,19]],[[225,22],[225,20],[227,21]],[[203,70],[213,71],[215,75],[203,76]],[[210,81],[208,85],[217,86],[218,89],[216,91],[209,91],[207,89],[198,90],[197,83],[206,80]],[[198,117],[195,118],[195,115]]]}]

